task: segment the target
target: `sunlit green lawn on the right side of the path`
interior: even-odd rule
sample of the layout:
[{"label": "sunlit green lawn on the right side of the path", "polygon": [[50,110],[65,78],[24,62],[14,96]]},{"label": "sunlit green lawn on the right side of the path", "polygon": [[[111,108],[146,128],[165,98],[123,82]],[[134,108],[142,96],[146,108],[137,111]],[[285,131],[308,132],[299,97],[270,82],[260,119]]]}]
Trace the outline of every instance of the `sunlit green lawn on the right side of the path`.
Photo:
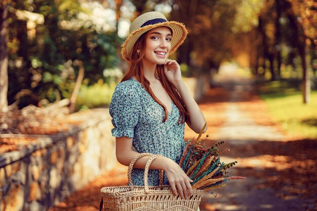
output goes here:
[{"label": "sunlit green lawn on the right side of the path", "polygon": [[[294,85],[294,84],[293,84]],[[267,104],[273,122],[281,123],[288,135],[317,138],[317,91],[303,104],[301,92],[289,81],[267,82],[260,87],[260,97]]]}]

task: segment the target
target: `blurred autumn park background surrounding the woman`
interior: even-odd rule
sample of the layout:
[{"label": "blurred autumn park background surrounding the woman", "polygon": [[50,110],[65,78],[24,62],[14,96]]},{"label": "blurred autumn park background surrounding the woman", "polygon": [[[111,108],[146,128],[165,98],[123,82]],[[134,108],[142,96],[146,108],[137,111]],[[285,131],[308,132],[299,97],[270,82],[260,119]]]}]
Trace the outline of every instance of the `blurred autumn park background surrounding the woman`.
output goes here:
[{"label": "blurred autumn park background surrounding the woman", "polygon": [[[185,81],[195,78],[199,87],[207,79],[208,90],[197,102],[208,122],[208,144],[225,140],[231,152],[223,154],[223,160],[239,160],[233,175],[248,177],[245,182],[232,182],[227,189],[216,191],[216,199],[206,194],[201,209],[316,210],[316,0],[2,0],[0,134],[4,138],[0,137],[0,158],[22,149],[22,142],[28,145],[34,138],[26,140],[15,134],[56,134],[90,119],[108,118],[105,108],[128,69],[121,58],[121,45],[131,22],[148,11],[161,12],[168,20],[186,25],[189,34],[171,59],[180,64]],[[64,116],[73,112],[79,113],[75,120]],[[10,191],[1,192],[5,210],[28,206],[37,209],[25,210],[48,209],[92,181],[93,176],[106,172],[52,209],[97,210],[101,187],[126,184],[126,168],[122,170],[122,166],[112,171],[108,171],[110,167],[96,170],[95,175],[89,170],[90,166],[111,163],[113,167],[115,163],[110,117],[107,120],[92,125],[93,132],[84,133],[87,136],[71,135],[65,138],[66,144],[47,147],[52,152],[43,150],[43,163],[50,162],[43,168],[49,170],[42,171],[41,162],[28,164],[35,168],[32,177],[26,177],[31,188],[20,190],[25,177],[17,180],[14,175],[23,170],[19,168],[24,166],[19,164],[24,162],[23,153],[19,155],[22,161],[0,160],[1,190],[7,188],[11,195],[21,195],[15,200],[6,196]],[[95,130],[98,127],[100,134]],[[185,139],[192,136],[196,134],[186,128]],[[78,147],[75,143],[81,141],[76,137],[83,139]],[[96,154],[100,157],[93,160]],[[111,160],[101,162],[103,155]],[[71,156],[76,158],[64,161]],[[11,164],[12,171],[8,167]],[[62,172],[73,179],[70,185],[65,182],[69,192],[60,182]],[[40,173],[49,176],[40,177]],[[81,182],[83,176],[89,180],[84,177]],[[38,184],[49,180],[39,193]],[[48,188],[63,191],[54,192],[50,198],[45,195]],[[16,203],[27,197],[25,203],[31,205]],[[18,204],[21,209],[11,209],[8,204]]]}]

